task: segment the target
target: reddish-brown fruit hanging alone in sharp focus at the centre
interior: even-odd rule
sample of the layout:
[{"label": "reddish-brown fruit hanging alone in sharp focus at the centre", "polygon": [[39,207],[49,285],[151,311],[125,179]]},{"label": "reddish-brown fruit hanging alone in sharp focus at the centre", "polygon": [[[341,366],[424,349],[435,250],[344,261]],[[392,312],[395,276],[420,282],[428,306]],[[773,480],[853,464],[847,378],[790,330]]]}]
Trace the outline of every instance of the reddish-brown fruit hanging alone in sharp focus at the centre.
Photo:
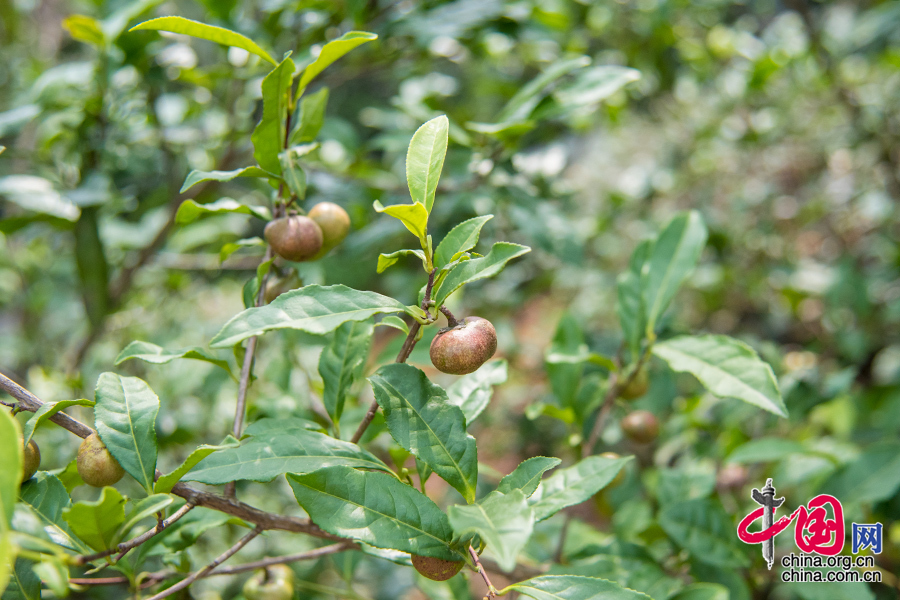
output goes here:
[{"label": "reddish-brown fruit hanging alone in sharp focus at the centre", "polygon": [[431,364],[442,373],[472,373],[497,351],[497,332],[487,319],[466,317],[431,341]]}]

